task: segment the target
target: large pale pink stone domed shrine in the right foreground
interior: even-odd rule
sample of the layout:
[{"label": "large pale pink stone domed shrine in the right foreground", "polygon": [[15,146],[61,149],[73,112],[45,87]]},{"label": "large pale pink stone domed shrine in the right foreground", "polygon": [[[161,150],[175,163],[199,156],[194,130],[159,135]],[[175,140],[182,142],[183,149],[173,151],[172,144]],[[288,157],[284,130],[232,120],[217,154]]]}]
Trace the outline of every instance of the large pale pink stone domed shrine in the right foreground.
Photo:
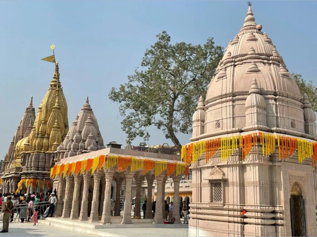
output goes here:
[{"label": "large pale pink stone domed shrine in the right foreground", "polygon": [[190,236],[316,236],[315,120],[249,6],[182,149]]}]

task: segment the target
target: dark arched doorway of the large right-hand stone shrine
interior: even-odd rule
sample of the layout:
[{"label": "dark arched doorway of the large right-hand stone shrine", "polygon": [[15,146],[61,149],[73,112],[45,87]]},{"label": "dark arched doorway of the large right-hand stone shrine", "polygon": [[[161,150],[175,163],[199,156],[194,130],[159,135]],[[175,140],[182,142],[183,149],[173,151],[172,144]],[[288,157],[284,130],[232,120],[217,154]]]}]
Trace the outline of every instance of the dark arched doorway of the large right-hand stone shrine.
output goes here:
[{"label": "dark arched doorway of the large right-hand stone shrine", "polygon": [[304,199],[301,195],[301,187],[297,182],[292,186],[289,204],[291,211],[292,236],[306,236]]}]

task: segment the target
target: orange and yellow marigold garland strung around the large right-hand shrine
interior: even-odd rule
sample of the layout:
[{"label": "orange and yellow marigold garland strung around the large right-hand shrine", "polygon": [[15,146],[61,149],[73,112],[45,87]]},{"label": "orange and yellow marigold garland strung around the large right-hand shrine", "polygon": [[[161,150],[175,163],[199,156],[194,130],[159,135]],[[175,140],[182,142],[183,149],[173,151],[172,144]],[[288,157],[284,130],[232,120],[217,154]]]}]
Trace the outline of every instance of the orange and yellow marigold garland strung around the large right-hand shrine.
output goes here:
[{"label": "orange and yellow marigold garland strung around the large right-hand shrine", "polygon": [[[260,138],[263,155],[272,155],[278,148],[279,159],[284,161],[297,152],[299,163],[302,163],[305,159],[312,158],[312,165],[315,167],[315,163],[317,163],[316,142],[308,142],[300,138],[271,135],[263,132],[245,136],[240,135],[239,137],[222,137],[186,144],[181,149],[181,160],[184,161],[185,166],[187,166],[194,163],[198,158],[205,154],[205,162],[208,163],[210,158],[220,150],[220,159],[221,161],[225,161],[234,154],[236,149],[241,149],[242,160],[244,160],[249,155],[252,148],[258,145],[258,136]],[[239,145],[237,145],[238,139]]]}]

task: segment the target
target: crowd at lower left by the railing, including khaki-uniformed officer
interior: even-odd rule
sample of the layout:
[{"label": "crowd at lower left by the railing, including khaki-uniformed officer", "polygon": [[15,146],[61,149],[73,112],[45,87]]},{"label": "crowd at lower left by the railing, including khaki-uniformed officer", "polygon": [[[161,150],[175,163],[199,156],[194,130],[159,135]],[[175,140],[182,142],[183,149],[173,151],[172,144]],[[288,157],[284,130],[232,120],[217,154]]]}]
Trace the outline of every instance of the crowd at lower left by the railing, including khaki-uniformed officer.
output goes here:
[{"label": "crowd at lower left by the railing, including khaki-uniformed officer", "polygon": [[40,216],[52,217],[57,203],[56,190],[49,193],[0,193],[0,209],[3,212],[3,228],[0,233],[9,232],[10,222],[30,222],[36,225]]}]

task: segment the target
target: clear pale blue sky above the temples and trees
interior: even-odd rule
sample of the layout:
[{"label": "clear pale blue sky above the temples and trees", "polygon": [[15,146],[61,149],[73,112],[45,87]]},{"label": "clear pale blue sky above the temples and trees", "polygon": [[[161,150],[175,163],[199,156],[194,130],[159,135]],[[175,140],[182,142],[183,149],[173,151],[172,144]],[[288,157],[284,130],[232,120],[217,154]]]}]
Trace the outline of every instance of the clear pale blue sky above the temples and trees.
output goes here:
[{"label": "clear pale blue sky above the temples and trees", "polygon": [[[125,144],[111,87],[127,81],[155,35],[172,43],[226,47],[243,25],[247,1],[0,1],[0,159],[8,149],[29,98],[37,110],[54,72],[41,61],[55,44],[71,124],[89,96],[105,143]],[[257,24],[273,40],[290,72],[316,83],[316,1],[253,1]],[[162,144],[149,129],[148,144]],[[179,135],[186,143],[190,135]],[[141,139],[133,144],[138,145]]]}]

